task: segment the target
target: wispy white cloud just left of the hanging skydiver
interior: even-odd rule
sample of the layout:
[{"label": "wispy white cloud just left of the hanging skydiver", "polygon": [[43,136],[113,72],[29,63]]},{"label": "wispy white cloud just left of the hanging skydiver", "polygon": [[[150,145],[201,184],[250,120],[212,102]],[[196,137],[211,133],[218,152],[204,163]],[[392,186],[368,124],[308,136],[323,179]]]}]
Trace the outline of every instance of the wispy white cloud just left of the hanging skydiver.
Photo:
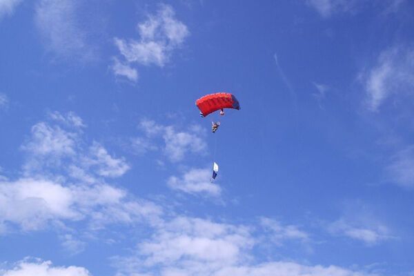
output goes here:
[{"label": "wispy white cloud just left of the hanging skydiver", "polygon": [[187,130],[179,130],[177,126],[164,126],[157,124],[155,121],[144,119],[140,122],[139,128],[144,131],[146,137],[139,137],[138,144],[132,143],[132,146],[138,147],[139,153],[147,150],[157,150],[155,139],[161,138],[164,141],[162,150],[164,155],[170,161],[181,161],[188,153],[202,154],[206,150],[204,141],[205,132],[199,126],[190,126]]}]

